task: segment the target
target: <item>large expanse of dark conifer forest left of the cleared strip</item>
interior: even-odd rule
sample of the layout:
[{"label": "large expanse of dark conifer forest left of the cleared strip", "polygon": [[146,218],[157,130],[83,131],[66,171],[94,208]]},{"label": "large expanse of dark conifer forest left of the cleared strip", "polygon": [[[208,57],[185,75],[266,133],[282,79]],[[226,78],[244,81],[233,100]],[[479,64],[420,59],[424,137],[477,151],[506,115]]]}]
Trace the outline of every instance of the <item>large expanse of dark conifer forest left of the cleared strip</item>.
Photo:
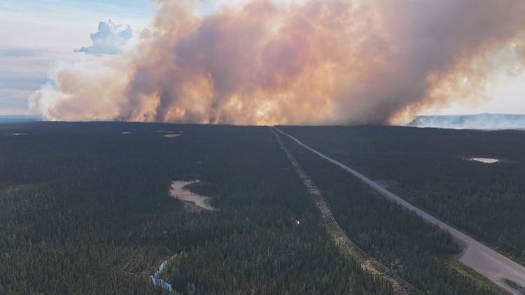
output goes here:
[{"label": "large expanse of dark conifer forest left of the cleared strip", "polygon": [[[176,179],[219,210],[186,212]],[[331,243],[264,127],[0,125],[0,224],[0,294],[167,294],[148,274],[173,254],[174,294],[392,294]]]}]

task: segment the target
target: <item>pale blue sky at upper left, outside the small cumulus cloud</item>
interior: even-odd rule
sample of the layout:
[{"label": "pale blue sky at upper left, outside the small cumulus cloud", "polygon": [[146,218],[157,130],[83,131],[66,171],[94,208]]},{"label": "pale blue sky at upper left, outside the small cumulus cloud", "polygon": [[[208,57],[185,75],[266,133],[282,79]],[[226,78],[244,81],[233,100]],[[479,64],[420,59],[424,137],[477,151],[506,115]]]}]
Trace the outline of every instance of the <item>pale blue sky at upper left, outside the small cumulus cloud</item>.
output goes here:
[{"label": "pale blue sky at upper left, outside the small cumulus cloud", "polygon": [[149,0],[0,0],[0,115],[30,114],[27,98],[47,81],[52,62],[89,58],[99,22],[141,29],[154,15]]}]

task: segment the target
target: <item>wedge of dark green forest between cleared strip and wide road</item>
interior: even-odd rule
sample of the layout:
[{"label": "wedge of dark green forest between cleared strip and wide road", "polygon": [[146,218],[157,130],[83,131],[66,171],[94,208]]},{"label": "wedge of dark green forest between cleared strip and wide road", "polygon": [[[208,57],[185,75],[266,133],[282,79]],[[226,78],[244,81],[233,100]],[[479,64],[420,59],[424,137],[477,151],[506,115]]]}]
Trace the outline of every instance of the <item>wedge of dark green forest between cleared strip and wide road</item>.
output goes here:
[{"label": "wedge of dark green forest between cleared strip and wide road", "polygon": [[321,189],[335,219],[358,247],[425,294],[498,294],[454,271],[459,249],[451,237],[372,192],[360,180],[284,138],[288,149]]}]

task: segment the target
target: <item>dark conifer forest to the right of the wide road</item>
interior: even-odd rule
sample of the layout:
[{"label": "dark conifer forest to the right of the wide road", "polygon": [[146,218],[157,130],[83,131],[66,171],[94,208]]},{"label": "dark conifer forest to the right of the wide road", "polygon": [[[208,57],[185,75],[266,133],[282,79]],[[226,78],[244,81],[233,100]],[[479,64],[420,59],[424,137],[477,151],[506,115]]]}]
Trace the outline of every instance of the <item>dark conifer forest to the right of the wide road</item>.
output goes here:
[{"label": "dark conifer forest to the right of the wide road", "polygon": [[[283,127],[414,205],[525,263],[525,132]],[[472,158],[498,159],[485,164]]]}]

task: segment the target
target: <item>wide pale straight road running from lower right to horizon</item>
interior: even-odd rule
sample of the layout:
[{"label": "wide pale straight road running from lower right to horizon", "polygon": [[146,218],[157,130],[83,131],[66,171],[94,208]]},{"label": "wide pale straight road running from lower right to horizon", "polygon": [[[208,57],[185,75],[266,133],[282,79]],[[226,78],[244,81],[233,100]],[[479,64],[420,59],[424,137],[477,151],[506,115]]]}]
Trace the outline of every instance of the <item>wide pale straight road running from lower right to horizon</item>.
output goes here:
[{"label": "wide pale straight road running from lower right to horizon", "polygon": [[[286,134],[280,129],[275,129],[281,134],[288,136],[288,138],[291,138],[293,141],[295,141],[295,143],[301,145],[307,150],[310,150],[311,152],[314,152],[314,154],[317,154],[319,157],[325,159],[326,161],[329,161],[332,164],[335,164],[336,166],[339,166],[339,168],[342,168],[344,171],[351,173],[353,176],[365,182],[366,185],[368,185],[369,187],[371,187],[376,192],[386,197],[390,201],[398,203],[400,206],[413,211],[421,218],[423,218],[423,220],[425,220],[426,222],[430,224],[435,224],[441,229],[448,231],[458,243],[461,243],[465,247],[463,253],[461,254],[461,257],[459,258],[459,261],[462,264],[465,264],[465,266],[468,266],[473,270],[477,271],[477,273],[483,275],[485,278],[491,280],[491,282],[498,285],[505,291],[510,292],[511,294],[524,294],[523,292],[525,290],[525,267],[521,264],[512,261],[511,259],[492,250],[491,248],[486,247],[482,243],[479,243],[477,240],[470,238],[470,236],[467,236],[465,233],[454,229],[454,227],[449,226],[449,224],[446,224],[433,217],[432,215],[426,213],[425,211],[413,206],[411,203],[408,203],[407,201],[401,199],[399,196],[396,196],[392,192],[389,192],[384,187],[381,187],[381,185],[377,184],[373,180],[370,180],[370,178],[367,178],[365,175],[353,170],[349,166],[346,166],[341,162],[336,161],[335,159],[332,159],[326,156],[325,154],[318,152],[317,150],[314,150],[313,148],[305,145],[290,134]],[[508,281],[512,281],[513,284],[511,285],[514,285],[514,287],[509,285]],[[517,287],[517,289],[515,289],[515,285],[519,285],[521,287]]]}]

